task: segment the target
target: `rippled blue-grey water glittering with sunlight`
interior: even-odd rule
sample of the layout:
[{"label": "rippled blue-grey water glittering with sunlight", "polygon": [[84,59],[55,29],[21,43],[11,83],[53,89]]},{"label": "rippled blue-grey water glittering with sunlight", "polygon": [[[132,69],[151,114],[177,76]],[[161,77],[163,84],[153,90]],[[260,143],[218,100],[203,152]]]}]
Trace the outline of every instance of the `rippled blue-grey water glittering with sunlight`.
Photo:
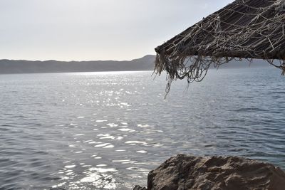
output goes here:
[{"label": "rippled blue-grey water glittering with sunlight", "polygon": [[177,153],[285,168],[279,70],[211,70],[166,100],[151,74],[0,75],[0,189],[131,189]]}]

